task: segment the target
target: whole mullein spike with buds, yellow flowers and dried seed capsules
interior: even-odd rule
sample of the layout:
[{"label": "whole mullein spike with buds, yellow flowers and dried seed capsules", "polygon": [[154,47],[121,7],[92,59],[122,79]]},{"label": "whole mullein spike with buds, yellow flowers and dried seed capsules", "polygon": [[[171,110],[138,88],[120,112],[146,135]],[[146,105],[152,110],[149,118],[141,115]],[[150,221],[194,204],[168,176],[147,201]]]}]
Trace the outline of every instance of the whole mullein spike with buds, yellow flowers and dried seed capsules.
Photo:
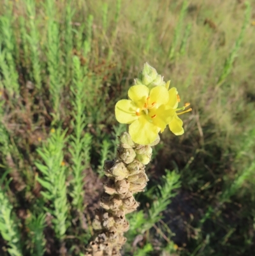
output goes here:
[{"label": "whole mullein spike with buds, yellow flowers and dried seed capsules", "polygon": [[143,192],[149,181],[145,165],[151,160],[152,146],[160,140],[159,132],[169,126],[175,135],[184,133],[179,115],[191,111],[186,110],[190,104],[178,108],[180,96],[175,87],[169,86],[170,81],[164,82],[156,69],[145,63],[135,85],[129,88],[129,100],[115,105],[117,121],[129,124],[129,132],[120,135],[115,160],[105,161],[105,191],[85,255],[121,255],[126,242],[124,232],[129,229],[126,215],[137,209],[139,203],[134,194]]}]

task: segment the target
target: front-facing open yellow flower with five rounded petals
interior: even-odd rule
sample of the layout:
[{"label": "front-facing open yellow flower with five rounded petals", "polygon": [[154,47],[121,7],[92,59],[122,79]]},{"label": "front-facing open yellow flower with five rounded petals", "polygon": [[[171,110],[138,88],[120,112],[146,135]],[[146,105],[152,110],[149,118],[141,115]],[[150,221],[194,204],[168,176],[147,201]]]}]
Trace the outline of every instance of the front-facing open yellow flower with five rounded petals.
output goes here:
[{"label": "front-facing open yellow flower with five rounded petals", "polygon": [[170,115],[168,89],[156,86],[151,90],[144,85],[131,86],[130,100],[120,100],[115,105],[115,116],[119,123],[130,124],[132,140],[148,145],[157,139],[173,116]]}]

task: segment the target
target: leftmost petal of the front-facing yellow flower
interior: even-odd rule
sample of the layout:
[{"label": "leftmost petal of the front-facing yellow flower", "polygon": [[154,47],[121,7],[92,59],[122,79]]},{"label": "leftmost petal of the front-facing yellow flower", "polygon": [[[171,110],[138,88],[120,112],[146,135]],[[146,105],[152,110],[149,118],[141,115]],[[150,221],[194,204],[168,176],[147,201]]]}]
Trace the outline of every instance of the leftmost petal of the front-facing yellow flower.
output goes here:
[{"label": "leftmost petal of the front-facing yellow flower", "polygon": [[119,123],[131,124],[138,119],[136,105],[131,100],[119,100],[115,105],[115,116]]}]

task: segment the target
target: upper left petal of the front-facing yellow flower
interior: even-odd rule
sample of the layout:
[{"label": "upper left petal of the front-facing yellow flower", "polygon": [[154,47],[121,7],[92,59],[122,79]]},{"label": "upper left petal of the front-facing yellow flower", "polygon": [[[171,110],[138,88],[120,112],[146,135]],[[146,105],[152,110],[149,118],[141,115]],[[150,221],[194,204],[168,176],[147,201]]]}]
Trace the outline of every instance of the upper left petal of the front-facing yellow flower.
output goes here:
[{"label": "upper left petal of the front-facing yellow flower", "polygon": [[149,96],[149,88],[144,85],[131,86],[128,90],[130,100],[136,103],[137,107],[142,108]]}]

